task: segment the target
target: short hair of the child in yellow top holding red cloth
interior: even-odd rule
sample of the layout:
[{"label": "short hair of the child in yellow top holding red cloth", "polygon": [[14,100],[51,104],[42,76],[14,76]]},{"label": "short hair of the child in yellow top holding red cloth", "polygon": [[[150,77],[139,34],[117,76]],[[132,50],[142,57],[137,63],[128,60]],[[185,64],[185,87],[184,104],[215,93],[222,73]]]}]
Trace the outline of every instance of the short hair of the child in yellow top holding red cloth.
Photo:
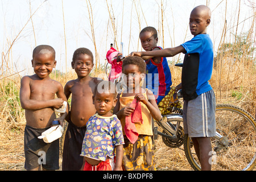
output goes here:
[{"label": "short hair of the child in yellow top holding red cloth", "polygon": [[123,67],[125,67],[128,64],[137,65],[137,67],[139,68],[139,72],[146,73],[146,63],[141,57],[138,57],[138,56],[125,57],[125,59],[123,59],[122,72],[123,72]]}]

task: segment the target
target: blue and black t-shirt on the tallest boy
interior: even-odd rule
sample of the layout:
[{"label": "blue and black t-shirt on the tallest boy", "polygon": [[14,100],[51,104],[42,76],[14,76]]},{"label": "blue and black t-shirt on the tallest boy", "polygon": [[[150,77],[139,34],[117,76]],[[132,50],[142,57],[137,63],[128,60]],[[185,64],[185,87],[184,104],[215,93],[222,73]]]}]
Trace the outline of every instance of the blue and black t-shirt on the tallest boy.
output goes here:
[{"label": "blue and black t-shirt on the tallest boy", "polygon": [[185,100],[192,100],[212,89],[213,45],[208,34],[199,34],[181,44],[186,50],[181,83]]}]

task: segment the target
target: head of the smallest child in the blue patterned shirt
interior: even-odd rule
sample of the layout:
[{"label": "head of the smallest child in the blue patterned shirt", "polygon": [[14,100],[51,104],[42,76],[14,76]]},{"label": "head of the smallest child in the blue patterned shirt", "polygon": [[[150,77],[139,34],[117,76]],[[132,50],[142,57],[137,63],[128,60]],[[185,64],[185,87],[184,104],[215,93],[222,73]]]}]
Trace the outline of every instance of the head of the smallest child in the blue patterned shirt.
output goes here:
[{"label": "head of the smallest child in the blue patterned shirt", "polygon": [[101,81],[93,94],[93,104],[99,115],[111,116],[111,109],[117,104],[117,89],[111,81]]}]

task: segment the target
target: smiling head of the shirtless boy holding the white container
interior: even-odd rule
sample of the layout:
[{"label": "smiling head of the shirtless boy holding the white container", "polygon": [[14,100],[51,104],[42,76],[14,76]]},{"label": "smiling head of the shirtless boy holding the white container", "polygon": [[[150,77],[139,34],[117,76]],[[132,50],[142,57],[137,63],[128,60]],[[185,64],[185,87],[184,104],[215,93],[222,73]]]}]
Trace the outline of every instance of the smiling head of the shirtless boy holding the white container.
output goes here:
[{"label": "smiling head of the shirtless boy holding the white container", "polygon": [[55,50],[48,45],[37,46],[32,55],[32,67],[40,78],[46,78],[56,67]]}]

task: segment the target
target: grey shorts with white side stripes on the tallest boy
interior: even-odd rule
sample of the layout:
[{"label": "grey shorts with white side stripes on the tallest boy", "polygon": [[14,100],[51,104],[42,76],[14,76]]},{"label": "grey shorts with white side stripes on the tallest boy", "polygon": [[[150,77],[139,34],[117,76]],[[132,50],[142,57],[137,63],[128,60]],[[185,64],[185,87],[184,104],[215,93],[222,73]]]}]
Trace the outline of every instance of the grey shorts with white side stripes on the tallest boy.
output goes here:
[{"label": "grey shorts with white side stripes on the tallest boy", "polygon": [[216,100],[213,90],[205,92],[195,99],[184,101],[184,133],[188,137],[214,137]]}]

